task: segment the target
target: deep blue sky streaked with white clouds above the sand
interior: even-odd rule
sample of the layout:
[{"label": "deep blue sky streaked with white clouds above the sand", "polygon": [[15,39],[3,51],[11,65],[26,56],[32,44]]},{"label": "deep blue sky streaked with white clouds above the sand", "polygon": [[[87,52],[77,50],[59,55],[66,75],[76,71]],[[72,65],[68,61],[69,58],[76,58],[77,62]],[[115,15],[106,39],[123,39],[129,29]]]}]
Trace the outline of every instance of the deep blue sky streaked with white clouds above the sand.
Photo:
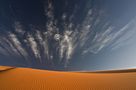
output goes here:
[{"label": "deep blue sky streaked with white clouds above the sand", "polygon": [[0,65],[136,68],[135,0],[1,0]]}]

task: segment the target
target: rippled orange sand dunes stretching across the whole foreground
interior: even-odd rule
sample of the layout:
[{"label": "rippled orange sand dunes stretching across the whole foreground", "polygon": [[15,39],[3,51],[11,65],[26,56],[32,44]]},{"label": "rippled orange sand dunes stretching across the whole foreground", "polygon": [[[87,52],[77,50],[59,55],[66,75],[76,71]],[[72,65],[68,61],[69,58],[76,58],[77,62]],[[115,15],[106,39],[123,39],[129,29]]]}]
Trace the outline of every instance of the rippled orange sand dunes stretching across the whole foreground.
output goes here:
[{"label": "rippled orange sand dunes stretching across the whole foreground", "polygon": [[136,90],[136,70],[82,73],[0,66],[0,90]]}]

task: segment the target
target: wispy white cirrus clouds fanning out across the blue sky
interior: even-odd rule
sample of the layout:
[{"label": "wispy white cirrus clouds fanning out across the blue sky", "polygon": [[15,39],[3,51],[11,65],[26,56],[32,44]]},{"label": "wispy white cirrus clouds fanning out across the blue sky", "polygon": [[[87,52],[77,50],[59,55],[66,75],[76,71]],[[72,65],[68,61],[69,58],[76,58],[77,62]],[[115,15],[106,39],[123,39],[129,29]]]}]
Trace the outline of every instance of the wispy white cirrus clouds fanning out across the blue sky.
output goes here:
[{"label": "wispy white cirrus clouds fanning out across the blue sky", "polygon": [[15,21],[14,31],[7,31],[7,36],[0,36],[0,53],[20,56],[26,61],[36,60],[40,64],[67,67],[77,52],[80,52],[77,56],[82,57],[87,53],[98,54],[107,47],[119,48],[135,33],[132,28],[136,24],[134,20],[116,28],[110,20],[103,19],[106,11],[87,4],[84,19],[75,23],[73,19],[77,12],[80,11],[75,6],[69,16],[63,12],[61,20],[58,20],[55,18],[52,2],[48,2],[48,6],[44,8],[47,18],[45,30],[28,25],[31,31],[27,31],[21,21]]}]

